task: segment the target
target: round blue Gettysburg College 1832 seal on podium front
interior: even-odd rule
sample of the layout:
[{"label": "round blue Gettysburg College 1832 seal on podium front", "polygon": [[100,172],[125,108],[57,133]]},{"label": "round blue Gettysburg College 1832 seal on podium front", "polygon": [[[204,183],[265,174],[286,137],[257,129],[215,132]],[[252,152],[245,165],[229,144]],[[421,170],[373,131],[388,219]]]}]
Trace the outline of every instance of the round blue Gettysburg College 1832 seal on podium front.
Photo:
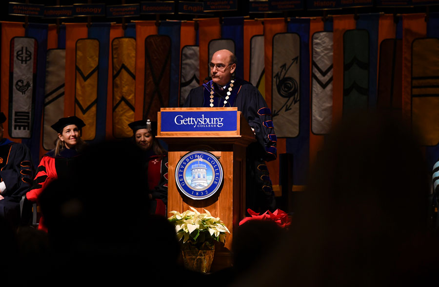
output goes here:
[{"label": "round blue Gettysburg College 1832 seal on podium front", "polygon": [[222,183],[220,161],[210,152],[197,150],[185,154],[175,169],[175,180],[180,191],[192,199],[213,196]]}]

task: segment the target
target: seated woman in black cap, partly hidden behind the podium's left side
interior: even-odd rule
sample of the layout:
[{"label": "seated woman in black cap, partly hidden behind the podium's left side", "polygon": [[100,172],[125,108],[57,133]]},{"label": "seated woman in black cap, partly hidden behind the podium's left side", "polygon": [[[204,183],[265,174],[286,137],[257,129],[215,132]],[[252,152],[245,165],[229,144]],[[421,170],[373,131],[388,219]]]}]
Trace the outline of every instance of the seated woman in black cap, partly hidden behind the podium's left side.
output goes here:
[{"label": "seated woman in black cap, partly hidden behind the podium's left side", "polygon": [[135,143],[144,151],[146,178],[148,180],[148,198],[150,213],[166,216],[168,202],[168,157],[167,151],[155,137],[157,122],[150,120],[128,124],[133,130]]}]

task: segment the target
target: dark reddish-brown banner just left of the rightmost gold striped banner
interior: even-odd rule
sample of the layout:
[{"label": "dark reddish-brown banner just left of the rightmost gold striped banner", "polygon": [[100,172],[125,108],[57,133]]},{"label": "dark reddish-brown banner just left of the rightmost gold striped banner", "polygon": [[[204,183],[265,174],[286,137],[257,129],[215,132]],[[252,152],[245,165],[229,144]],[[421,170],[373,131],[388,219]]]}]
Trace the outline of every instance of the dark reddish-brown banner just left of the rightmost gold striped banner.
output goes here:
[{"label": "dark reddish-brown banner just left of the rightmost gold striped banner", "polygon": [[379,49],[378,101],[379,109],[400,114],[402,105],[402,40],[382,40]]}]

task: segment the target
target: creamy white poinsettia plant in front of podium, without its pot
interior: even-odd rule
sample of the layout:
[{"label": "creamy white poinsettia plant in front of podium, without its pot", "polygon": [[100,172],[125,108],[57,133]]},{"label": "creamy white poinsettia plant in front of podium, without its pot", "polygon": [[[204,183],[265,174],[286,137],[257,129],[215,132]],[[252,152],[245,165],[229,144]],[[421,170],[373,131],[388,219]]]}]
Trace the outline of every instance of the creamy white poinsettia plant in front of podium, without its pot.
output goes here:
[{"label": "creamy white poinsettia plant in front of podium, without its pot", "polygon": [[215,241],[225,242],[226,233],[230,233],[220,217],[214,217],[209,211],[198,212],[195,208],[183,213],[171,211],[173,215],[168,218],[175,225],[177,238],[183,246],[194,246],[199,249],[212,247]]}]

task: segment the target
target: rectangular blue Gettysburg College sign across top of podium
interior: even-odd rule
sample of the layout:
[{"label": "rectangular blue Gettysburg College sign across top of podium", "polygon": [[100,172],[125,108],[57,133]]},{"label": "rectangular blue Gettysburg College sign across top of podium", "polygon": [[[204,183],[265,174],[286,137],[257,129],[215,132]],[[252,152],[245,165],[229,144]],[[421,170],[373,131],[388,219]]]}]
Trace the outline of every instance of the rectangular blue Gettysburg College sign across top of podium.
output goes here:
[{"label": "rectangular blue Gettysburg College sign across top of podium", "polygon": [[236,111],[161,111],[161,132],[236,130]]}]

